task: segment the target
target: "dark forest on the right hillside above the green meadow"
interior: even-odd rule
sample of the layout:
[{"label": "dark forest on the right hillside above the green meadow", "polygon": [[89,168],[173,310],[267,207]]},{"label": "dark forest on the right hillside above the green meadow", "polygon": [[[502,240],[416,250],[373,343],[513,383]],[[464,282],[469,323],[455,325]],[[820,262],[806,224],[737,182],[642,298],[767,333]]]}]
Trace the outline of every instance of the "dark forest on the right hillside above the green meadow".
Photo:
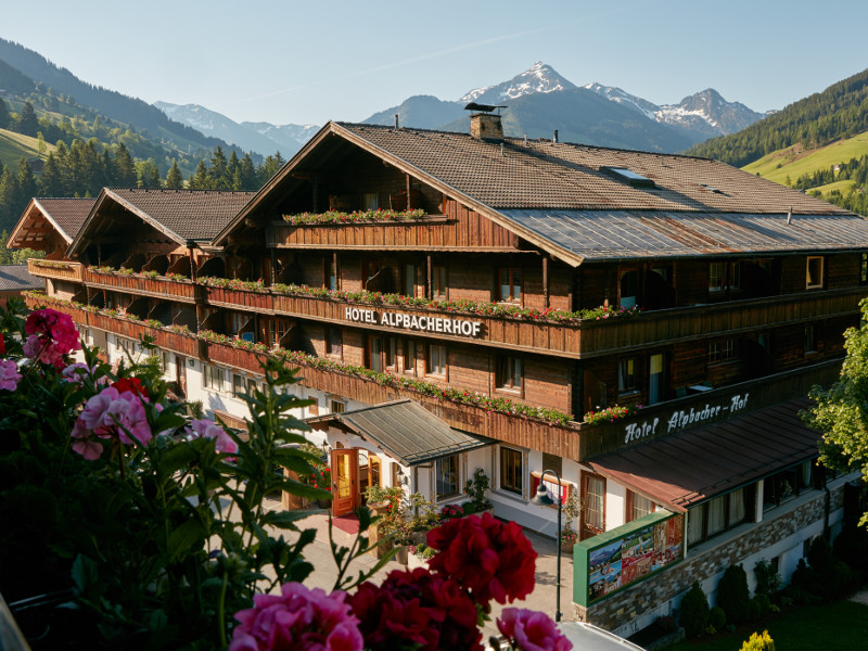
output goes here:
[{"label": "dark forest on the right hillside above the green meadow", "polygon": [[868,130],[868,69],[839,81],[746,129],[697,144],[686,153],[736,167],[797,142],[822,146]]}]

